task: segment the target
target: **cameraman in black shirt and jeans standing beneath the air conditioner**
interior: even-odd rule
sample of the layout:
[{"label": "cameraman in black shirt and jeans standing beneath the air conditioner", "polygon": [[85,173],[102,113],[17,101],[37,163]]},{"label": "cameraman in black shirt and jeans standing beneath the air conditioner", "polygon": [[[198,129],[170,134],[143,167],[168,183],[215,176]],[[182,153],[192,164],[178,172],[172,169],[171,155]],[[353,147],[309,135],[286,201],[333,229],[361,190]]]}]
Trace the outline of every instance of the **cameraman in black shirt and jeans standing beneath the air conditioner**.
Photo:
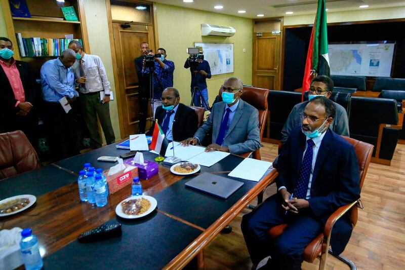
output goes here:
[{"label": "cameraman in black shirt and jeans standing beneath the air conditioner", "polygon": [[191,105],[210,109],[208,102],[208,88],[206,79],[211,78],[211,68],[208,61],[204,60],[203,52],[199,48],[188,48],[190,55],[184,63],[185,68],[190,68],[191,72]]}]

